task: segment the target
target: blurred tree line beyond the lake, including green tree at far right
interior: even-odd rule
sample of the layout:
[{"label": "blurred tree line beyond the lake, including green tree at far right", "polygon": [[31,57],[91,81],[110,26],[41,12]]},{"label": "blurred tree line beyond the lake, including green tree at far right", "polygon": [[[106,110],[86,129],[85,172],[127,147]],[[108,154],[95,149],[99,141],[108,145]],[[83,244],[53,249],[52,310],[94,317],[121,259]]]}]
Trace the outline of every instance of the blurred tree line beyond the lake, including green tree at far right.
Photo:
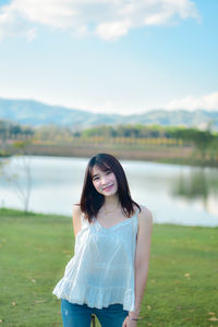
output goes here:
[{"label": "blurred tree line beyond the lake, including green tree at far right", "polygon": [[185,126],[162,126],[144,124],[100,125],[85,130],[57,125],[28,126],[0,120],[1,143],[19,140],[40,142],[112,142],[154,145],[192,145],[199,150],[202,158],[206,154],[216,157],[218,153],[218,132],[209,129]]}]

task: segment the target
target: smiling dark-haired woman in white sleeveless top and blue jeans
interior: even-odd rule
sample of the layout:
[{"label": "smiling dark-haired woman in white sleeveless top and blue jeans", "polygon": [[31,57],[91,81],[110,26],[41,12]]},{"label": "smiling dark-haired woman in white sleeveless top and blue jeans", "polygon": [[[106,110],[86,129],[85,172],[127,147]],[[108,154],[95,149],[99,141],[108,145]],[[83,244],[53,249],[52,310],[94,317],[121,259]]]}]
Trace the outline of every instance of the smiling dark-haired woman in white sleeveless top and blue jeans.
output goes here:
[{"label": "smiling dark-haired woman in white sleeveless top and blue jeans", "polygon": [[74,256],[53,290],[64,327],[135,327],[148,274],[153,218],[135,203],[113,156],[87,166],[80,205],[73,208]]}]

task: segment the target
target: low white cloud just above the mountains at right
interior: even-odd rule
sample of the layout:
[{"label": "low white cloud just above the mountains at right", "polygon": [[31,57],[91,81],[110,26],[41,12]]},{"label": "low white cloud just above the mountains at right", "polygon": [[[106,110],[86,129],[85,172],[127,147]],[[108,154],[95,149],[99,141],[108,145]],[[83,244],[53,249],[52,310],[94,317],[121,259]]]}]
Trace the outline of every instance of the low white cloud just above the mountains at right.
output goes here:
[{"label": "low white cloud just above the mountains at right", "polygon": [[218,110],[218,92],[204,96],[186,96],[183,99],[171,100],[166,107],[168,110],[185,109],[185,110]]}]

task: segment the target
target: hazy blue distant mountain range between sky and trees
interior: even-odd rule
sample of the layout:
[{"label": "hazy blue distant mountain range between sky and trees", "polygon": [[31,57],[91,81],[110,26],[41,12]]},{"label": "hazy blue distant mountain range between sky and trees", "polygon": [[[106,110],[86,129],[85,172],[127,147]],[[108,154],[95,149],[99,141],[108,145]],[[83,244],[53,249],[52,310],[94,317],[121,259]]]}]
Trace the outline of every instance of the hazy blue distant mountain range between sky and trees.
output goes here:
[{"label": "hazy blue distant mountain range between sky and trees", "polygon": [[160,124],[205,128],[211,123],[218,131],[218,110],[152,110],[141,114],[93,113],[78,109],[49,106],[35,100],[0,99],[0,120],[9,120],[32,126],[56,124],[84,129],[102,124]]}]

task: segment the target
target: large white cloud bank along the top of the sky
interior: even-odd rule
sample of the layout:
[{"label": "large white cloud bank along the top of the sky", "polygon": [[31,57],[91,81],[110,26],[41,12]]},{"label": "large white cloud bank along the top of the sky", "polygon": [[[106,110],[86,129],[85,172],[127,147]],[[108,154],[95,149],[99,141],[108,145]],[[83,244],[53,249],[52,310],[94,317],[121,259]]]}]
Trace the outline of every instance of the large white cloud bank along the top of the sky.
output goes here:
[{"label": "large white cloud bank along the top of the sky", "polygon": [[0,9],[0,38],[28,37],[28,31],[41,24],[109,40],[126,35],[131,28],[189,17],[198,19],[191,0],[11,0]]}]

